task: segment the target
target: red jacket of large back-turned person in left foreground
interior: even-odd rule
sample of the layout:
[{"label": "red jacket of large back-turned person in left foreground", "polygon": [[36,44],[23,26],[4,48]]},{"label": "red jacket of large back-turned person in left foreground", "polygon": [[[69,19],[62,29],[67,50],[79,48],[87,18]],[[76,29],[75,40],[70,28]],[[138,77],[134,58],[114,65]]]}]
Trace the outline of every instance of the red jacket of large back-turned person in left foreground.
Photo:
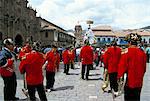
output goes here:
[{"label": "red jacket of large back-turned person in left foreground", "polygon": [[32,51],[22,59],[19,70],[26,73],[28,85],[38,85],[43,83],[42,66],[44,57],[41,53]]}]

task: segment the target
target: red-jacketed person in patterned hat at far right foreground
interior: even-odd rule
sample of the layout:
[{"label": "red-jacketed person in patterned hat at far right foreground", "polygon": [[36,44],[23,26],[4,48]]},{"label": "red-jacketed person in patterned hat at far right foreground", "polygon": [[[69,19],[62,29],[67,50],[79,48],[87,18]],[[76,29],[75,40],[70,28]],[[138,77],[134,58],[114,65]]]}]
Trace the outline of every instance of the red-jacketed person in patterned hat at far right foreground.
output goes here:
[{"label": "red-jacketed person in patterned hat at far right foreground", "polygon": [[124,73],[127,74],[124,86],[125,101],[140,101],[143,77],[146,72],[146,54],[137,46],[141,41],[140,35],[131,33],[125,39],[128,41],[129,47],[121,57],[118,78],[121,78]]}]

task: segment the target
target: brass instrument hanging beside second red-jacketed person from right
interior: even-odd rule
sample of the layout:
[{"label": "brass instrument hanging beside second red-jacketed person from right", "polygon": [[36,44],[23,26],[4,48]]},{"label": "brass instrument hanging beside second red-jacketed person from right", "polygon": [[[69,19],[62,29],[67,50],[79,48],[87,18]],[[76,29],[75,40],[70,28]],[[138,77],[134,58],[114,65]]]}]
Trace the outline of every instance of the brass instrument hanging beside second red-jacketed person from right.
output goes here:
[{"label": "brass instrument hanging beside second red-jacketed person from right", "polygon": [[109,74],[108,74],[108,70],[104,69],[104,79],[103,79],[103,85],[102,85],[102,90],[105,92],[105,89],[108,87],[109,84]]}]

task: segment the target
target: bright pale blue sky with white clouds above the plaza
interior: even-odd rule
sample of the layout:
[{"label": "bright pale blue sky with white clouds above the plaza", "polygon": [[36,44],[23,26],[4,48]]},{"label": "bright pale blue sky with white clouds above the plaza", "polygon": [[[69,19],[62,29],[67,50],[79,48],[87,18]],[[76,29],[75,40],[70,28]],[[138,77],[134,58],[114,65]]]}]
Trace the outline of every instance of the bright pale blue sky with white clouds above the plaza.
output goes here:
[{"label": "bright pale blue sky with white clouds above the plaza", "polygon": [[87,29],[109,25],[114,29],[135,29],[150,26],[150,0],[28,0],[37,16],[64,28],[80,24]]}]

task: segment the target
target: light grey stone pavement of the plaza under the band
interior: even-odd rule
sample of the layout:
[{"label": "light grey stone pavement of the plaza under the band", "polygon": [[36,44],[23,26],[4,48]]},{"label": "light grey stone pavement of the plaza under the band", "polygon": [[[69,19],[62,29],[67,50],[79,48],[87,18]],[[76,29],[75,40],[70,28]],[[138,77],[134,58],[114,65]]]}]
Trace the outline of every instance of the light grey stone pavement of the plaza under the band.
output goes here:
[{"label": "light grey stone pavement of the plaza under the band", "polygon": [[[113,101],[111,93],[103,93],[101,90],[103,68],[97,67],[96,70],[90,71],[88,81],[80,79],[80,68],[78,64],[75,69],[70,69],[70,75],[63,73],[63,65],[56,73],[54,88],[56,91],[46,93],[48,101]],[[150,69],[147,65],[147,72],[144,78],[144,86],[141,94],[141,101],[150,101]],[[23,88],[22,76],[17,72],[17,97],[25,99],[22,93]],[[45,85],[45,79],[44,79]],[[3,101],[3,80],[0,78],[0,101]],[[38,95],[36,94],[37,98]],[[20,100],[21,101],[21,100]],[[123,101],[123,95],[115,99],[115,101]]]}]

